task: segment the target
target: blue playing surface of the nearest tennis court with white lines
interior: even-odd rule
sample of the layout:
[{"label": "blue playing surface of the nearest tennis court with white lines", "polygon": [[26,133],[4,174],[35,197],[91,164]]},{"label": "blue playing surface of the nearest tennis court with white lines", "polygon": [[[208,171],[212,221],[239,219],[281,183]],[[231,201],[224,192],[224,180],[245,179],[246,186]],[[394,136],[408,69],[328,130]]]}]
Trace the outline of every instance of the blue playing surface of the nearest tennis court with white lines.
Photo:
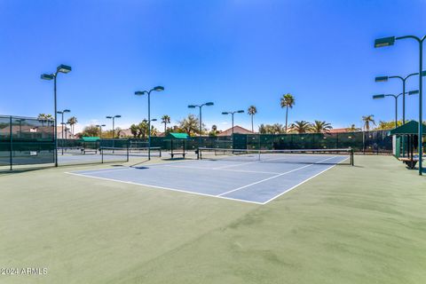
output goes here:
[{"label": "blue playing surface of the nearest tennis court with white lines", "polygon": [[344,155],[316,154],[288,162],[192,160],[70,174],[265,204],[346,159]]}]

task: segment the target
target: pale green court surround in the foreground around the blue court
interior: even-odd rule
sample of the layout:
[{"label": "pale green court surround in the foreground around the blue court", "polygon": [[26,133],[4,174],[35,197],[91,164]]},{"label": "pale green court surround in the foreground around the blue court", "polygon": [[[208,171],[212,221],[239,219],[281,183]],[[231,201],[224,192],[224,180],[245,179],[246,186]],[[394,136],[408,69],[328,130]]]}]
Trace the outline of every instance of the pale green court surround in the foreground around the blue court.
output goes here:
[{"label": "pale green court surround in the foreground around the blue court", "polygon": [[0,175],[0,283],[426,283],[426,180],[356,156],[265,204],[69,175]]}]

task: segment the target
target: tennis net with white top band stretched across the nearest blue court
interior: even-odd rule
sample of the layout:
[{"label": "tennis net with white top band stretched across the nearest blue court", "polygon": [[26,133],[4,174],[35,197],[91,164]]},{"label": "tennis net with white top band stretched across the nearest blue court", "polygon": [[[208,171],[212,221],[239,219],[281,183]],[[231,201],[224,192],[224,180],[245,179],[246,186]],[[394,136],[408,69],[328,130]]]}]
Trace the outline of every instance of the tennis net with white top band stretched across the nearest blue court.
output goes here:
[{"label": "tennis net with white top band stretched across the nearest blue court", "polygon": [[353,166],[352,149],[298,149],[298,150],[253,150],[253,149],[198,149],[198,159],[235,162],[288,162],[306,164],[347,164]]}]

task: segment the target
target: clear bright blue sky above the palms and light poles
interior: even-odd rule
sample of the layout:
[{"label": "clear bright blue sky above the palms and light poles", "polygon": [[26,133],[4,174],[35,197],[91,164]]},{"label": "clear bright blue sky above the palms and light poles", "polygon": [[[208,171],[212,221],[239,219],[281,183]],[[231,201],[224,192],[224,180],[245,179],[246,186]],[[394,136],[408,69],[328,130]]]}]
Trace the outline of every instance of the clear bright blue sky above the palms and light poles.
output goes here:
[{"label": "clear bright blue sky above the palms and light poles", "polygon": [[[417,72],[418,45],[373,45],[405,35],[426,35],[425,0],[1,0],[0,114],[52,114],[52,83],[40,75],[63,63],[73,71],[60,75],[59,108],[81,126],[109,126],[111,114],[122,114],[122,128],[140,122],[147,100],[133,93],[158,84],[166,91],[153,94],[152,117],[173,122],[191,113],[188,104],[211,100],[208,127],[229,127],[221,112],[249,105],[256,125],[284,123],[287,92],[296,98],[290,122],[392,120],[393,99],[371,96],[399,93],[401,83],[374,78]],[[407,89],[417,88],[410,79]],[[406,117],[417,109],[417,96],[407,98]],[[235,118],[249,126],[248,114]]]}]

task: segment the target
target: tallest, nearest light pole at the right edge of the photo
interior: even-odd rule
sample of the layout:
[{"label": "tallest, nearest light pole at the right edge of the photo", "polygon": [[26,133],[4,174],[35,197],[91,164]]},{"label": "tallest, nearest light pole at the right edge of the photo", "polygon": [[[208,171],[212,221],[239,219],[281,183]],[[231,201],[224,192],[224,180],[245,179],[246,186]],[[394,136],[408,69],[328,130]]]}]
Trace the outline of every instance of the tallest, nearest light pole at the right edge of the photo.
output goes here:
[{"label": "tallest, nearest light pole at the right edge of the photo", "polygon": [[423,121],[422,121],[422,69],[423,69],[423,42],[426,39],[426,36],[423,36],[422,38],[417,36],[390,36],[390,37],[383,37],[375,40],[375,47],[383,47],[383,46],[390,46],[395,43],[395,40],[399,39],[406,39],[411,38],[417,41],[419,43],[419,130],[418,130],[418,136],[419,136],[419,175],[422,176],[422,154],[423,154],[423,147],[422,147],[422,136],[423,136]]}]

